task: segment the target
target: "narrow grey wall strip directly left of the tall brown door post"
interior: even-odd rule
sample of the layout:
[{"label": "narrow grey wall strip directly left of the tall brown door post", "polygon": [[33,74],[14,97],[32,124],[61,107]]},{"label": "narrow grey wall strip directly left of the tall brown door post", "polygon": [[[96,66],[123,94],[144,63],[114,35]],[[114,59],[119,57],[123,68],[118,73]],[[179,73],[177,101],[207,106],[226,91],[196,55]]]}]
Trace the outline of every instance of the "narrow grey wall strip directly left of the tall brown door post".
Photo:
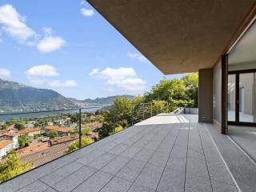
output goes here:
[{"label": "narrow grey wall strip directly left of the tall brown door post", "polygon": [[213,118],[219,126],[222,124],[222,65],[221,62],[213,70]]}]

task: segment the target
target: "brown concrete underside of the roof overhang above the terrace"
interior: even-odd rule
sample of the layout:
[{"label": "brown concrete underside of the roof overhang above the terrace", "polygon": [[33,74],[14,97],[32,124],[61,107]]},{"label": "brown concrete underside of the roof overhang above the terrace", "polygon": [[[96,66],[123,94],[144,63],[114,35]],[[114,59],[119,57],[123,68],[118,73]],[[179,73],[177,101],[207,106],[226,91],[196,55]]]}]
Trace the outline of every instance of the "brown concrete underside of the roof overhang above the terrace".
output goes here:
[{"label": "brown concrete underside of the roof overhang above the terrace", "polygon": [[164,74],[213,67],[255,0],[88,0]]}]

